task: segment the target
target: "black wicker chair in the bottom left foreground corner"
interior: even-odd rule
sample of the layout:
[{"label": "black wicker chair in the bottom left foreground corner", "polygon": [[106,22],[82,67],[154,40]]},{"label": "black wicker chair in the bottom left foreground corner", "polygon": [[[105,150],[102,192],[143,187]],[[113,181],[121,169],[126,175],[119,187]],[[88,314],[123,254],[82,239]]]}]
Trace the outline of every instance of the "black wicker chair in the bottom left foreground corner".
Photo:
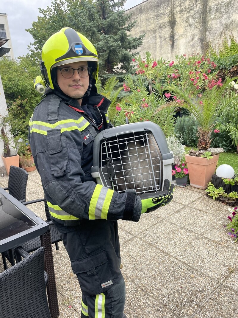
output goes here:
[{"label": "black wicker chair in the bottom left foreground corner", "polygon": [[30,255],[22,248],[16,248],[15,252],[25,258],[0,273],[1,318],[51,318],[46,296],[44,247]]}]

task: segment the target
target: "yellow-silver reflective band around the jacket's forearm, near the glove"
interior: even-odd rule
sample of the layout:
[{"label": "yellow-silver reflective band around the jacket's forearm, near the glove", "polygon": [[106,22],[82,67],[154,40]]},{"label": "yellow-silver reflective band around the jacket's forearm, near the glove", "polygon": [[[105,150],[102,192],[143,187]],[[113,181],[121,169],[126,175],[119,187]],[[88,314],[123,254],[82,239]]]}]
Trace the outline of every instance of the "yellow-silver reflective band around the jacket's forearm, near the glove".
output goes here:
[{"label": "yellow-silver reflective band around the jacket's forearm, near the glove", "polygon": [[101,184],[96,185],[89,204],[89,220],[107,219],[113,193]]}]

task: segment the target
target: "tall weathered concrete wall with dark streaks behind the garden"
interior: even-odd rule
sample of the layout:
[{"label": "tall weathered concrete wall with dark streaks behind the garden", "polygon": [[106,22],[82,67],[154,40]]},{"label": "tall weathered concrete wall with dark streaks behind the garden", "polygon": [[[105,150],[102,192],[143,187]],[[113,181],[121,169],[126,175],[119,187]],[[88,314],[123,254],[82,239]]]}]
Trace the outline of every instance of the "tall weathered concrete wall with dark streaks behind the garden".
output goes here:
[{"label": "tall weathered concrete wall with dark streaks behind the garden", "polygon": [[223,34],[238,40],[235,0],[147,0],[126,11],[137,20],[131,35],[146,33],[137,50],[158,59],[204,53],[209,41],[217,46]]}]

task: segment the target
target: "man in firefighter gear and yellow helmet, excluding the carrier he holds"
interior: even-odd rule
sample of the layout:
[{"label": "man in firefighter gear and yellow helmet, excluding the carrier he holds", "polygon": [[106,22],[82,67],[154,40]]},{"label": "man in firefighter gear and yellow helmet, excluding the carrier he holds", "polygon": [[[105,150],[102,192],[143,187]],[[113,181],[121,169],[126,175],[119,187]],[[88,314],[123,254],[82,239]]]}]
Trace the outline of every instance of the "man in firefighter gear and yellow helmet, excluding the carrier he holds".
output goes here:
[{"label": "man in firefighter gear and yellow helmet, excluding the carrier he holds", "polygon": [[92,178],[94,138],[112,125],[110,101],[96,91],[98,55],[87,38],[71,28],[53,34],[43,45],[40,68],[48,88],[31,116],[29,141],[82,290],[81,316],[126,317],[117,220],[137,222],[142,213],[168,204],[174,185],[165,180],[162,192],[137,196]]}]

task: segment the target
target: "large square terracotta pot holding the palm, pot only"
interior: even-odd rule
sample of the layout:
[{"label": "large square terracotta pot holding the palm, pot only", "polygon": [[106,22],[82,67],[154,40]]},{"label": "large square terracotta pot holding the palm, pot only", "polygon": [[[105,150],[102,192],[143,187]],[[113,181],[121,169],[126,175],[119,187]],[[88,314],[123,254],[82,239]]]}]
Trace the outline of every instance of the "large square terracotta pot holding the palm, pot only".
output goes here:
[{"label": "large square terracotta pot holding the palm, pot only", "polygon": [[216,169],[219,154],[211,159],[185,155],[191,187],[205,190]]}]

